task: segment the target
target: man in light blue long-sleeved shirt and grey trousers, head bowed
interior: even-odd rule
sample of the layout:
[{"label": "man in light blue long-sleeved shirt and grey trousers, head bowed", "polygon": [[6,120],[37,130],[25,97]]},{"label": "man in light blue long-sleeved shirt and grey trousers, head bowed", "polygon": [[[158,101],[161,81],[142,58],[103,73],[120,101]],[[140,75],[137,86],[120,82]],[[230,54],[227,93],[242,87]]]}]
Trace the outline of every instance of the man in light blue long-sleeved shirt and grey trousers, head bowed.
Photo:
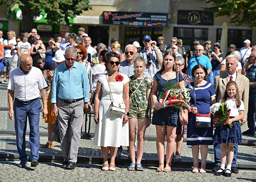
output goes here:
[{"label": "man in light blue long-sleeved shirt and grey trousers, head bowed", "polygon": [[84,111],[89,112],[89,82],[86,68],[75,61],[77,51],[68,47],[65,63],[58,65],[53,74],[53,114],[60,128],[62,168],[75,169]]}]

